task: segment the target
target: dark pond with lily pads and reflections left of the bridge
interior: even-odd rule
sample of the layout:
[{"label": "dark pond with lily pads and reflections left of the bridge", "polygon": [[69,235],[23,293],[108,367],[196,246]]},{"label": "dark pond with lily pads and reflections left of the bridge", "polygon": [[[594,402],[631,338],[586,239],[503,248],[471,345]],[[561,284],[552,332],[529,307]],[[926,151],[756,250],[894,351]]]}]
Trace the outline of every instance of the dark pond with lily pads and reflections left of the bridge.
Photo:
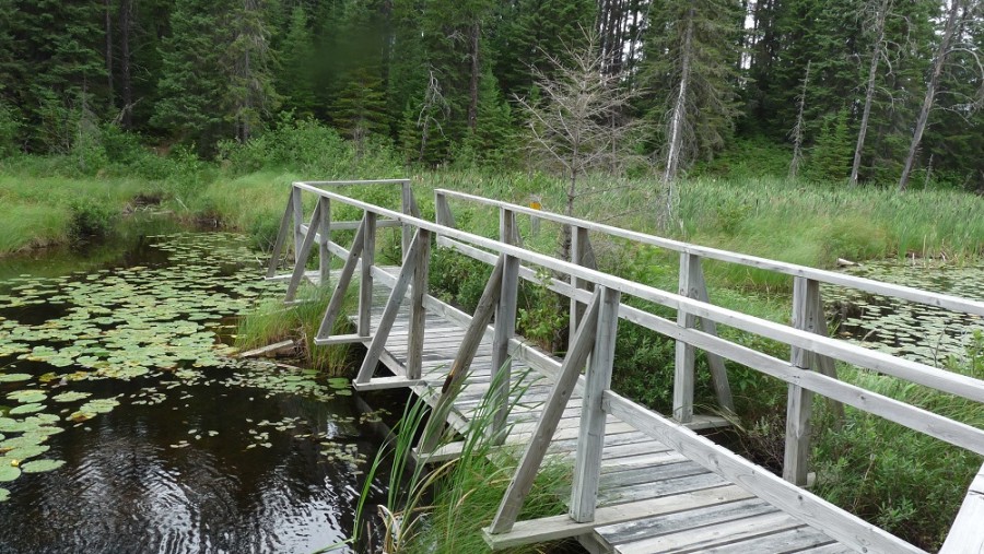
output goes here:
[{"label": "dark pond with lily pads and reflections left of the bridge", "polygon": [[343,379],[229,357],[236,316],[283,291],[243,237],[36,258],[0,260],[0,553],[312,552],[352,534],[386,410]]}]

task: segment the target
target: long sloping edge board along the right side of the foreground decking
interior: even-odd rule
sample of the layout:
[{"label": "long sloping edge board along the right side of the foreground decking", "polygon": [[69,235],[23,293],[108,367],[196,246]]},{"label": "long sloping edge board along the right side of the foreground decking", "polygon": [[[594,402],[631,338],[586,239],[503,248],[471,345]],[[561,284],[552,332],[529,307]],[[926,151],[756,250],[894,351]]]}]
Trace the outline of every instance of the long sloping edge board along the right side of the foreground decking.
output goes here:
[{"label": "long sloping edge board along the right side of the foreground decking", "polygon": [[809,521],[815,528],[855,550],[886,553],[923,552],[614,392],[605,392],[604,404],[608,413],[634,425],[724,479],[753,490],[760,498],[800,521]]}]

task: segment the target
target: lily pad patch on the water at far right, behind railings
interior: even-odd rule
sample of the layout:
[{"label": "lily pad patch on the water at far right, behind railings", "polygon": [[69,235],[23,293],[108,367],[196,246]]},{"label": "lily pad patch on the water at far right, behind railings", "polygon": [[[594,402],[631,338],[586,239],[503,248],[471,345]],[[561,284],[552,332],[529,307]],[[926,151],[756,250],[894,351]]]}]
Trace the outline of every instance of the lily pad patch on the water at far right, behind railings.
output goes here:
[{"label": "lily pad patch on the water at far right, behind railings", "polygon": [[[952,267],[932,261],[872,262],[850,272],[858,276],[913,286],[973,299],[984,299],[984,266]],[[837,332],[889,354],[942,366],[960,359],[984,318],[867,294],[824,286],[828,310],[840,322]]]}]

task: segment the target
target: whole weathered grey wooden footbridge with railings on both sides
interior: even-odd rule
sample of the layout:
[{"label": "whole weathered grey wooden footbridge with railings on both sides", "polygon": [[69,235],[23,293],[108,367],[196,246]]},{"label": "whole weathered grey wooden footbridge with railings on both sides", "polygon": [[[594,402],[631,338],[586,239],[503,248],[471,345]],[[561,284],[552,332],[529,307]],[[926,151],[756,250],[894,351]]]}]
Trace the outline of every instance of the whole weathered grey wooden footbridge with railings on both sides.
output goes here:
[{"label": "whole weathered grey wooden footbridge with railings on both sides", "polygon": [[[400,208],[387,209],[345,196],[345,187],[353,186],[398,188]],[[497,210],[499,238],[456,228],[452,202]],[[333,222],[332,207],[336,211],[348,207],[362,216]],[[493,549],[577,538],[591,552],[922,552],[803,488],[815,394],[984,455],[984,431],[837,379],[834,363],[840,361],[984,402],[984,381],[827,337],[820,284],[977,316],[984,316],[984,303],[705,248],[450,190],[435,191],[434,209],[435,221],[421,219],[409,180],[295,182],[267,276],[289,280],[288,300],[294,300],[304,280],[333,282],[315,342],[365,344],[356,389],[409,387],[458,431],[467,428],[479,399],[492,394],[497,411],[491,432],[523,451],[485,530]],[[525,248],[518,225],[525,217],[566,226],[573,238],[572,259]],[[385,227],[401,229],[399,266],[376,263],[376,231]],[[337,231],[355,232],[350,246],[332,240],[331,233]],[[663,291],[597,270],[593,235],[679,252],[679,290]],[[289,244],[293,245],[293,271],[278,275]],[[432,244],[493,267],[475,314],[427,294]],[[319,266],[308,271],[315,249]],[[332,257],[342,260],[340,270],[330,269]],[[701,270],[704,259],[788,275],[794,284],[793,325],[712,304]],[[553,275],[547,278],[549,288],[571,299],[571,342],[563,358],[540,351],[515,332],[519,281],[541,282],[542,270]],[[355,332],[331,335],[356,273]],[[670,308],[677,318],[632,307],[623,302],[626,297]],[[611,390],[612,361],[620,355],[614,341],[620,320],[676,341],[671,415],[655,413]],[[787,344],[790,359],[722,339],[716,325]],[[782,476],[694,432],[721,422],[693,411],[698,349],[708,356],[722,412],[734,408],[724,359],[788,384]],[[393,376],[375,376],[380,362]],[[534,379],[523,399],[515,402],[508,398],[509,384],[520,375]],[[444,393],[449,389],[459,392]],[[509,410],[513,403],[516,405]],[[455,444],[435,447],[435,440],[425,438],[419,448],[424,452],[421,456],[435,461],[454,455]],[[573,462],[569,514],[517,521],[534,478],[548,457]],[[984,552],[982,495],[984,468],[971,485],[942,552]]]}]

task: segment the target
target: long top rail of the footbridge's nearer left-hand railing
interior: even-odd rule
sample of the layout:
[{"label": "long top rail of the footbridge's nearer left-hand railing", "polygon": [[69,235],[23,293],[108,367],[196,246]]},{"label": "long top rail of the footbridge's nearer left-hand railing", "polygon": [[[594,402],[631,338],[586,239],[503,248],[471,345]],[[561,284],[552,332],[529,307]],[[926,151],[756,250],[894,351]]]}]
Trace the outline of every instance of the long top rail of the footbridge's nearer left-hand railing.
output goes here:
[{"label": "long top rail of the footbridge's nearer left-hand railing", "polygon": [[489,248],[499,254],[512,256],[547,269],[570,274],[597,285],[614,288],[644,300],[654,302],[678,310],[682,309],[694,316],[707,318],[718,323],[773,339],[792,346],[797,346],[810,352],[822,353],[825,356],[841,359],[850,364],[892,375],[976,402],[984,402],[984,380],[938,369],[919,362],[895,357],[891,354],[868,350],[842,340],[822,337],[786,325],[741,314],[646,284],[629,281],[624,278],[593,270],[566,260],[560,260],[558,258],[527,250],[508,243],[502,243],[496,239],[482,237],[454,227],[447,227],[438,223],[388,210],[343,195],[312,187],[301,181],[294,182],[293,186],[330,200],[337,200],[344,204],[359,208],[366,212],[390,217],[407,225],[431,231],[483,248]]}]

